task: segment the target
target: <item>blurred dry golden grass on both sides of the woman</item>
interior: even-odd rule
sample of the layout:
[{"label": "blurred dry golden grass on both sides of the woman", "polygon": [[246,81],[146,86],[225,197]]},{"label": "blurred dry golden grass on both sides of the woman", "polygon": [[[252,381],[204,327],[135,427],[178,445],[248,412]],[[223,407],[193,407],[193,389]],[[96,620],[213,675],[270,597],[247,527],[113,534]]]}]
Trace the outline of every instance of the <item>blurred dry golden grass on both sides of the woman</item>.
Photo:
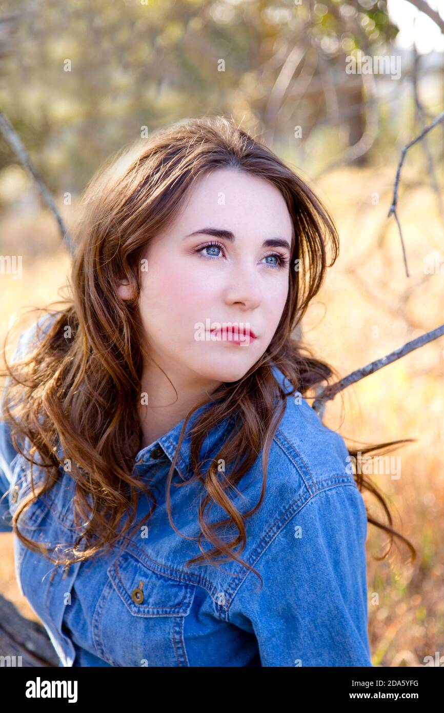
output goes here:
[{"label": "blurred dry golden grass on both sides of the woman", "polygon": [[[391,203],[393,170],[344,168],[318,183],[339,227],[341,252],[304,319],[304,338],[339,377],[384,356],[443,322],[444,272],[425,275],[423,259],[444,256],[443,222],[430,188],[405,168],[399,215],[411,277],[404,272]],[[376,195],[378,194],[378,204]],[[2,235],[21,243],[24,277],[2,275],[0,339],[9,315],[22,305],[44,306],[66,284],[68,257],[48,215],[27,225],[9,219]],[[30,256],[38,238],[41,250]],[[8,240],[8,242],[9,242]],[[3,254],[17,249],[2,244]],[[42,252],[44,250],[44,252]],[[443,257],[444,260],[444,257]],[[388,538],[368,525],[368,611],[373,665],[422,666],[426,655],[444,655],[444,337],[359,381],[329,403],[324,422],[358,447],[416,438],[392,452],[401,456],[401,477],[371,476],[391,505],[394,527],[418,556],[408,563],[401,543],[388,558]],[[356,439],[356,442],[353,441]],[[368,510],[383,513],[366,496]],[[0,535],[0,590],[32,615],[14,578],[12,535]]]}]

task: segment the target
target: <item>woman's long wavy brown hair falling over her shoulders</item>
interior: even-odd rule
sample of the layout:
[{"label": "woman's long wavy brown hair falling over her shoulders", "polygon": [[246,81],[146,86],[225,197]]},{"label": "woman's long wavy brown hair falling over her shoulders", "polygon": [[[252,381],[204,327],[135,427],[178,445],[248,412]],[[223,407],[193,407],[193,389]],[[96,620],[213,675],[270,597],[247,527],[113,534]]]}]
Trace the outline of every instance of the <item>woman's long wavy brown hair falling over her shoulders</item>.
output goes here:
[{"label": "woman's long wavy brown hair falling over her shoulders", "polygon": [[[221,384],[209,400],[195,406],[209,404],[192,429],[190,444],[193,478],[201,481],[205,498],[197,513],[202,554],[188,564],[215,563],[222,555],[257,573],[239,558],[239,552],[246,544],[244,518],[252,515],[264,498],[269,448],[285,408],[286,394],[274,379],[272,363],[302,395],[316,384],[328,384],[334,376],[328,364],[301,347],[294,331],[319,291],[327,267],[336,260],[339,237],[334,221],[309,186],[259,140],[221,116],[181,120],[123,147],[100,166],[83,193],[81,216],[73,231],[76,250],[70,297],[63,300],[63,309],[38,347],[13,365],[6,364],[2,372],[12,379],[8,392],[13,399],[19,397],[16,414],[7,402],[4,406],[6,418],[13,424],[14,447],[31,463],[31,478],[36,452],[42,458],[38,466],[47,469],[43,486],[17,508],[13,528],[27,547],[43,552],[56,564],[86,560],[126,535],[134,521],[140,491],[147,493],[151,503],[142,523],[153,513],[154,493],[133,473],[143,437],[138,411],[143,367],[138,314],[140,260],[150,240],[177,215],[193,182],[224,167],[259,176],[280,190],[294,226],[291,265],[299,269],[289,270],[286,306],[266,352],[242,379]],[[123,301],[118,297],[120,279],[128,279],[133,286],[134,299]],[[5,346],[3,354],[6,363]],[[179,447],[195,409],[185,418]],[[227,416],[233,416],[237,428],[229,434],[215,461],[202,468],[200,452],[205,434]],[[29,458],[21,450],[18,436],[29,438]],[[361,453],[403,442],[369,446]],[[87,526],[71,549],[55,557],[43,543],[20,533],[17,520],[24,508],[60,477],[59,445],[71,459],[76,481],[74,521],[78,525],[86,520]],[[254,508],[241,515],[227,496],[227,488],[239,483],[262,449],[261,495]],[[174,528],[170,486],[178,450],[167,476],[167,512]],[[356,458],[358,451],[349,453]],[[234,464],[222,482],[216,466],[220,458],[227,465]],[[388,525],[373,518],[368,521],[390,533],[391,541],[393,535],[404,540],[414,558],[413,545],[391,528],[391,513],[378,488],[362,473],[353,474],[358,488],[371,491],[388,517]],[[212,503],[224,509],[226,519],[215,524],[205,520]],[[125,514],[128,518],[123,518]],[[229,543],[217,534],[222,525],[237,528],[238,535]],[[202,548],[202,538],[213,545],[211,550]],[[239,552],[234,552],[237,545]]]}]

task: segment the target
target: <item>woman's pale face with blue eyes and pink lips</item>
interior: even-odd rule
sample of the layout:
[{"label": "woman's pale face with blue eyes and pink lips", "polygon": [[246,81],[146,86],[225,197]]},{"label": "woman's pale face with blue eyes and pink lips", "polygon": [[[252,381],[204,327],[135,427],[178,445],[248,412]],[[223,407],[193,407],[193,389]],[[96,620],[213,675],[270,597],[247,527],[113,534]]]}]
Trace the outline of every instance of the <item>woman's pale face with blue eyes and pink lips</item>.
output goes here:
[{"label": "woman's pale face with blue eyes and pink lips", "polygon": [[173,384],[237,381],[265,352],[288,293],[291,233],[266,180],[221,168],[196,182],[142,263],[145,347]]}]

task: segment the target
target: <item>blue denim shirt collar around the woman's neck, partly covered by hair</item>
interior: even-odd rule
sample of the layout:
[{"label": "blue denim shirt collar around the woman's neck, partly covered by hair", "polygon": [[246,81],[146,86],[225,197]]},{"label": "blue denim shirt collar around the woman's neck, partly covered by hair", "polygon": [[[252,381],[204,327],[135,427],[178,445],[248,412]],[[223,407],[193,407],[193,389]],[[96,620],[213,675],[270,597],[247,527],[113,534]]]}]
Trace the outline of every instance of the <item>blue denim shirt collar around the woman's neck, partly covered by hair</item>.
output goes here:
[{"label": "blue denim shirt collar around the woman's neck, partly covered by hair", "polygon": [[[284,389],[290,387],[290,393],[294,391],[293,387],[291,386],[291,382],[286,379],[284,374],[282,374],[282,371],[280,371],[280,369],[278,369],[278,367],[274,364],[272,365],[272,372],[274,374],[274,378]],[[210,405],[211,404],[204,404],[203,406],[200,406],[199,409],[196,409],[196,411],[190,417],[190,420],[188,421],[187,426],[185,428],[185,434],[182,440],[182,444],[179,448],[179,452],[177,454],[177,461],[175,465],[180,477],[182,478],[182,481],[187,481],[192,476],[190,456],[190,431],[192,430],[193,426],[195,426],[195,423],[200,417],[200,415],[206,409],[208,409]],[[217,426],[214,426],[210,430],[210,432],[207,433],[207,438],[205,438],[204,443],[205,453],[201,452],[201,457],[208,458],[214,456],[217,453],[217,446],[222,445],[224,437],[226,438],[228,436],[229,427],[234,425],[234,420],[235,416],[229,416],[226,419],[220,421]],[[180,423],[173,426],[172,429],[167,434],[165,434],[165,436],[161,436],[161,438],[158,438],[157,441],[150,443],[150,446],[145,446],[145,448],[142,448],[142,450],[138,452],[135,458],[136,464],[148,466],[151,463],[155,462],[156,456],[158,458],[157,451],[159,449],[159,446],[160,448],[162,448],[162,451],[164,451],[170,461],[173,461],[179,443],[180,431],[182,430],[184,421],[185,418],[182,419]]]}]

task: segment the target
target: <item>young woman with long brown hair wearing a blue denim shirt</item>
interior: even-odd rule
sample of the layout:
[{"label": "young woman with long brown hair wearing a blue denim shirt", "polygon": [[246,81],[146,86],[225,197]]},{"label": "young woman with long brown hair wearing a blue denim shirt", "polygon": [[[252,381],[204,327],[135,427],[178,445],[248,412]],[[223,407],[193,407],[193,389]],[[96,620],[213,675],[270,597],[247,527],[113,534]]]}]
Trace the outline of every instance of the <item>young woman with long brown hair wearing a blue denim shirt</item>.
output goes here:
[{"label": "young woman with long brown hair wearing a blue denim shirt", "polygon": [[376,491],[294,336],[338,252],[321,202],[232,121],[188,119],[100,168],[75,245],[0,434],[1,528],[60,665],[371,666]]}]

